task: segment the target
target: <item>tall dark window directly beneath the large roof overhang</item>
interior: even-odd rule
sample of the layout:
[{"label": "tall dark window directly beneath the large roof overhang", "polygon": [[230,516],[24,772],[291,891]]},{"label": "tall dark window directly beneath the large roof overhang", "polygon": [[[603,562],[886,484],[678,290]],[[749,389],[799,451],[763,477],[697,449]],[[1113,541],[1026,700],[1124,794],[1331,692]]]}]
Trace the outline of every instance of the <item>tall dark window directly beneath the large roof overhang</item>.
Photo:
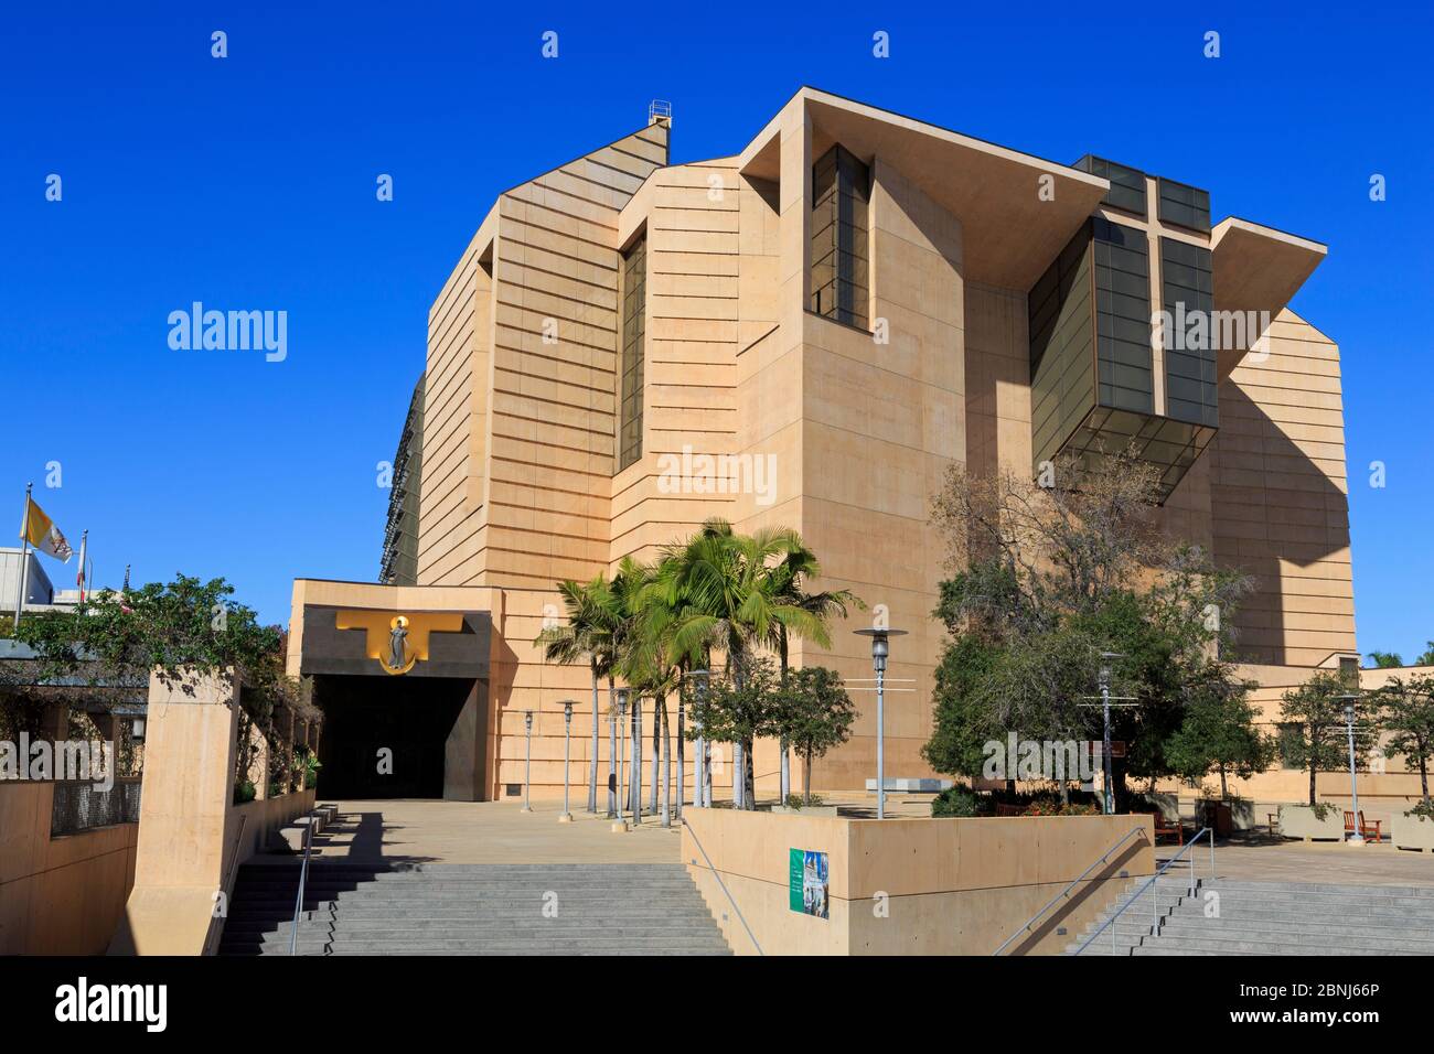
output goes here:
[{"label": "tall dark window directly beneath the large roof overhang", "polygon": [[833,146],[812,166],[812,311],[866,328],[870,174]]}]

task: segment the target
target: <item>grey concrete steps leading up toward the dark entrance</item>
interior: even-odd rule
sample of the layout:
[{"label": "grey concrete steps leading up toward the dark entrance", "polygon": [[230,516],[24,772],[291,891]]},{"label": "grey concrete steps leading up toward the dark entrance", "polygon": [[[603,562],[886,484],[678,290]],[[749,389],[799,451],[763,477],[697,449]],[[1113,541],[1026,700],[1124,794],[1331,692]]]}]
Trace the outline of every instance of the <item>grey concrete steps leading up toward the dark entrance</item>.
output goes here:
[{"label": "grey concrete steps leading up toward the dark entrance", "polygon": [[[288,955],[298,865],[239,869],[221,955]],[[545,911],[546,909],[546,911]],[[687,869],[311,862],[300,955],[730,955]]]}]

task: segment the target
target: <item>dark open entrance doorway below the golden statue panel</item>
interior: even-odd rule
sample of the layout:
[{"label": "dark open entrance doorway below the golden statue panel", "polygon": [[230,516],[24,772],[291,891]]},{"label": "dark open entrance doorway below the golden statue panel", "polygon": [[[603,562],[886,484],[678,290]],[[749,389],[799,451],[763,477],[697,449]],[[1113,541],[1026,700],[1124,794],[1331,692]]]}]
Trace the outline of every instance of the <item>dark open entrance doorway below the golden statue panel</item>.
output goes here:
[{"label": "dark open entrance doorway below the golden statue panel", "polygon": [[[469,718],[480,708],[480,681],[460,677],[315,675],[314,701],[324,711],[320,793],[445,797],[449,756],[472,743],[465,708]],[[391,753],[380,769],[381,750]]]}]

